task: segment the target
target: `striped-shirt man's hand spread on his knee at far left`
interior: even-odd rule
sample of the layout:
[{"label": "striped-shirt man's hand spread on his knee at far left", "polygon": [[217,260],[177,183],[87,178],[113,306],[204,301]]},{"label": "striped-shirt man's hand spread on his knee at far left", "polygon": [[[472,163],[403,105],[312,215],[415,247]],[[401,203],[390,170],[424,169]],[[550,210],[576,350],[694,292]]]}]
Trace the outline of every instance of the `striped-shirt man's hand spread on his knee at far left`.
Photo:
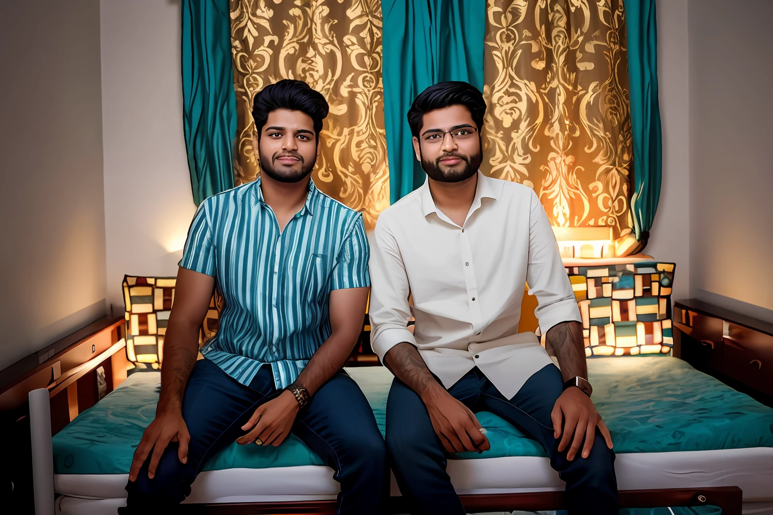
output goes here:
[{"label": "striped-shirt man's hand spread on his knee at far left", "polygon": [[158,460],[164,453],[164,449],[169,442],[179,442],[177,457],[181,463],[188,462],[188,443],[191,436],[188,433],[188,426],[182,420],[182,412],[179,408],[170,408],[165,412],[159,412],[155,415],[153,422],[148,425],[145,432],[142,433],[140,445],[135,450],[135,457],[131,460],[131,469],[129,470],[129,481],[135,481],[145,459],[153,449],[153,456],[148,466],[148,478],[153,479],[155,469],[158,466]]}]

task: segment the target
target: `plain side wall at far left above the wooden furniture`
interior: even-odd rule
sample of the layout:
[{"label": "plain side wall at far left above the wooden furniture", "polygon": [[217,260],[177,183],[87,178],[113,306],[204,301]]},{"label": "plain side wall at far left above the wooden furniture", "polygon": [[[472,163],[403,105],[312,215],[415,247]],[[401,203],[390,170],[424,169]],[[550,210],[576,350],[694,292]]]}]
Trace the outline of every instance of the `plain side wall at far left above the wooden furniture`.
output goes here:
[{"label": "plain side wall at far left above the wooden furniture", "polygon": [[104,316],[98,0],[0,2],[0,369]]}]

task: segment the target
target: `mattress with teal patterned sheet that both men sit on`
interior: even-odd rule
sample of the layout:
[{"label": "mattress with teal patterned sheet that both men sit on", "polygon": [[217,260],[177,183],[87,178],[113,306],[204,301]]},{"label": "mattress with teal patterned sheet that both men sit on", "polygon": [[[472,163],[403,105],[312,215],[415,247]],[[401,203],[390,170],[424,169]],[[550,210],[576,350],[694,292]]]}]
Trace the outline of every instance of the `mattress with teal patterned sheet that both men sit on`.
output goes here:
[{"label": "mattress with teal patterned sheet that both men sit on", "polygon": [[[347,371],[383,432],[390,372]],[[620,490],[737,486],[744,513],[773,513],[773,409],[676,357],[595,358],[588,374],[615,442]],[[53,437],[56,513],[115,513],[124,505],[131,456],[155,414],[159,378],[157,371],[131,374]],[[491,413],[478,419],[492,448],[451,456],[448,472],[460,495],[564,490],[536,442]],[[279,448],[233,444],[212,456],[186,503],[302,505],[335,500],[337,492],[332,469],[291,436]],[[392,495],[400,495],[394,481]]]}]

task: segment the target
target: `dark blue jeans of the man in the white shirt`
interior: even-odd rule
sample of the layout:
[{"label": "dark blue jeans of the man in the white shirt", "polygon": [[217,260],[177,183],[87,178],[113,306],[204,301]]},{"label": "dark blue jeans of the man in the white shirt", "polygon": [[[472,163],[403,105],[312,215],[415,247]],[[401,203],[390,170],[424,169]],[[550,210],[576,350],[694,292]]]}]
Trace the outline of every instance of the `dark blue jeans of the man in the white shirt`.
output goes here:
[{"label": "dark blue jeans of the man in the white shirt", "polygon": [[[560,371],[549,364],[533,374],[516,396],[508,400],[478,368],[473,368],[448,388],[448,393],[472,412],[495,413],[540,442],[550,457],[550,466],[567,483],[570,515],[617,515],[615,453],[607,447],[598,428],[587,458],[578,452],[569,461],[567,450],[558,452],[560,440],[553,438],[550,412],[563,385]],[[407,496],[411,513],[464,515],[465,509],[445,471],[446,456],[432,429],[427,408],[416,392],[397,378],[386,402],[386,447],[400,492]]]}]

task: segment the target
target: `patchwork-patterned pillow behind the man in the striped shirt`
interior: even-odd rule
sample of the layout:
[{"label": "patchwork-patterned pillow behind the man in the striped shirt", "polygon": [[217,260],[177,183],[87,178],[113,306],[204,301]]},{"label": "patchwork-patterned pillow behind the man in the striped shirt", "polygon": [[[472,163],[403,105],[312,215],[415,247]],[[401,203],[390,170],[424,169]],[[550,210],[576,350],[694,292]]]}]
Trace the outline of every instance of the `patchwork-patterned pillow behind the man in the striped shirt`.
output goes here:
[{"label": "patchwork-patterned pillow behind the man in the striped shirt", "polygon": [[[126,357],[137,368],[161,367],[176,283],[175,277],[124,276]],[[222,297],[215,291],[199,330],[199,348],[216,334],[222,308]]]}]

